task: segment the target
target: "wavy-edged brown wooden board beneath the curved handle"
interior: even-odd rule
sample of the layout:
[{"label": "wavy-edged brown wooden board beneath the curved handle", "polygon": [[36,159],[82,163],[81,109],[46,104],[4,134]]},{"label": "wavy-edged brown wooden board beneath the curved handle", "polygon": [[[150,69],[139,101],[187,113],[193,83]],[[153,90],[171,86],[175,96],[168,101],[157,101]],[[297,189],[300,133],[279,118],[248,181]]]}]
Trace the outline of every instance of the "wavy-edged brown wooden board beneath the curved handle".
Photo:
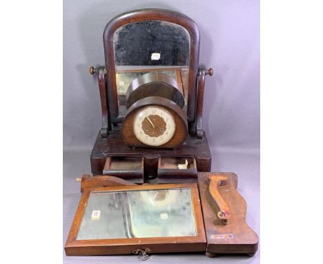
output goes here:
[{"label": "wavy-edged brown wooden board beneath the curved handle", "polygon": [[[219,194],[230,208],[231,218],[227,225],[217,216],[217,200],[213,200],[208,189],[210,176],[227,178],[226,185],[218,186]],[[246,202],[237,192],[235,173],[198,173],[199,195],[202,203],[206,229],[206,253],[253,255],[257,252],[258,236],[246,223]]]}]

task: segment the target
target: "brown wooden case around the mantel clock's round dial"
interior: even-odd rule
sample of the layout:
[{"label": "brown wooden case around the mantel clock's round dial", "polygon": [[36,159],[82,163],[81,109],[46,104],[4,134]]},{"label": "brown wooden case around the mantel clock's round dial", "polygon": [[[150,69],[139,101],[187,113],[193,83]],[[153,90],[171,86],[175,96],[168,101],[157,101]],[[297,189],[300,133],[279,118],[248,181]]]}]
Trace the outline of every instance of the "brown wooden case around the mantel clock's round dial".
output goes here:
[{"label": "brown wooden case around the mantel clock's round dial", "polygon": [[[126,113],[124,117],[124,122],[121,126],[121,135],[124,139],[124,142],[127,142],[131,147],[148,147],[146,144],[140,142],[135,136],[133,130],[133,122],[135,116],[141,109],[144,109],[147,106],[157,106],[164,107],[174,118],[175,121],[175,133],[173,138],[171,138],[165,144],[157,146],[155,148],[175,148],[181,145],[188,135],[188,127],[185,113],[182,109],[177,106],[173,101],[170,101],[163,97],[145,97],[133,104]],[[151,148],[151,147],[150,147]]]}]

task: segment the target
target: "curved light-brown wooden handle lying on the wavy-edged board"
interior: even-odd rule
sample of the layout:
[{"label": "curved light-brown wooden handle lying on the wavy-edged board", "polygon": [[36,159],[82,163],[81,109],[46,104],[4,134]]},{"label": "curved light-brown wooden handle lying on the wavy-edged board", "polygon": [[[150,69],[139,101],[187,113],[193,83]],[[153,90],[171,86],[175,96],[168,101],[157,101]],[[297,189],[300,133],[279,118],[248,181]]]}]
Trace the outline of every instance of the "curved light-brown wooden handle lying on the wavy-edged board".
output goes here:
[{"label": "curved light-brown wooden handle lying on the wavy-edged board", "polygon": [[230,219],[230,209],[226,204],[226,201],[222,198],[221,194],[219,193],[219,189],[217,187],[226,185],[226,180],[228,177],[226,176],[210,176],[210,185],[208,189],[210,190],[210,194],[217,203],[219,207],[219,211],[217,212],[217,217],[221,220],[222,225],[227,225],[228,220]]}]

